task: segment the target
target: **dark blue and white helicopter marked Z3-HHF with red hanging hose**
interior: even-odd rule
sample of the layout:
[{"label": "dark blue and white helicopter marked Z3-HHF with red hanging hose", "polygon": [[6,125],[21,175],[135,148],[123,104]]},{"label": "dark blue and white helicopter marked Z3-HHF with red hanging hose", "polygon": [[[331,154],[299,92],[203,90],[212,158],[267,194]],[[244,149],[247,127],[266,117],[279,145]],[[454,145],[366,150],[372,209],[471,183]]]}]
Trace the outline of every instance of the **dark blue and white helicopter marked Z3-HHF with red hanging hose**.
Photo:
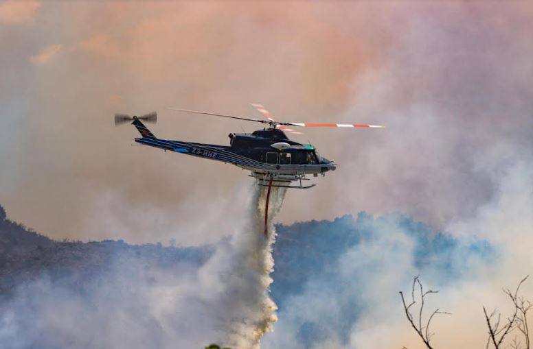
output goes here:
[{"label": "dark blue and white helicopter marked Z3-HHF with red hanging hose", "polygon": [[[144,125],[157,122],[157,112],[150,112],[141,116],[115,114],[115,125],[129,123],[137,128],[141,138],[135,138],[135,142],[141,145],[149,145],[163,149],[165,152],[177,152],[221,161],[249,170],[249,176],[256,178],[258,185],[268,186],[267,202],[265,210],[265,234],[267,234],[268,206],[272,187],[309,189],[315,184],[304,185],[302,181],[310,180],[308,175],[317,177],[325,176],[328,171],[334,171],[337,164],[319,155],[317,149],[310,144],[291,141],[286,133],[299,134],[293,127],[306,128],[383,128],[383,125],[365,124],[339,124],[339,123],[293,123],[280,122],[273,119],[271,113],[261,104],[251,104],[260,112],[264,119],[251,117],[235,117],[214,112],[202,112],[180,108],[169,108],[179,112],[188,112],[214,117],[224,117],[242,121],[253,121],[264,124],[262,130],[256,130],[251,134],[230,133],[229,145],[213,145],[206,143],[193,143],[185,141],[172,141],[158,139]],[[297,185],[293,185],[297,182]]]}]

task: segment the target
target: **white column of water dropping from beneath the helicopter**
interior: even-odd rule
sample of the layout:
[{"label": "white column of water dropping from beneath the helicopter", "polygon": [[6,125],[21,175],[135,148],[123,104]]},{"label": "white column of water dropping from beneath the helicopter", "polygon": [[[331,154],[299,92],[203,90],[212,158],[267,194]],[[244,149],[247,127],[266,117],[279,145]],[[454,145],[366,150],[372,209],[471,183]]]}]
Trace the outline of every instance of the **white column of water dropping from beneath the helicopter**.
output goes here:
[{"label": "white column of water dropping from beneath the helicopter", "polygon": [[[264,236],[264,215],[267,188],[256,186],[249,204],[249,220],[237,230],[231,244],[219,249],[203,272],[216,274],[222,294],[220,302],[225,317],[225,345],[236,349],[259,348],[264,333],[277,321],[277,306],[269,296],[273,271],[272,246],[275,242],[273,218],[279,213],[286,189],[273,187],[269,201],[267,237]],[[218,272],[213,273],[213,269]]]}]

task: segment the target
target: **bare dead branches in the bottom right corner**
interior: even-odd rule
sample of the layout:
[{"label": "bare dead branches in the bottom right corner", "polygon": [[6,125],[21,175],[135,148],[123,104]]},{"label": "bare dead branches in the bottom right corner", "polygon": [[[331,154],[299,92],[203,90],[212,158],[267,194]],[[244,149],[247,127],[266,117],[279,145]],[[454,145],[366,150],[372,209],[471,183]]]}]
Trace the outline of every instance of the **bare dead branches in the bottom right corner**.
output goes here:
[{"label": "bare dead branches in the bottom right corner", "polygon": [[[508,317],[505,324],[501,324],[501,313],[496,309],[488,315],[485,307],[483,307],[483,313],[485,315],[485,320],[488,327],[488,338],[486,348],[488,349],[490,344],[494,346],[495,349],[503,348],[503,339],[509,335],[512,330],[518,329],[524,339],[525,339],[525,349],[530,349],[530,330],[528,327],[528,311],[533,308],[533,304],[529,300],[525,300],[523,296],[519,296],[520,287],[529,277],[525,276],[518,286],[517,289],[511,292],[509,289],[503,289],[503,292],[509,296],[514,306],[512,316]],[[518,341],[515,337],[512,344],[510,344],[513,349],[521,349],[521,341]]]}]

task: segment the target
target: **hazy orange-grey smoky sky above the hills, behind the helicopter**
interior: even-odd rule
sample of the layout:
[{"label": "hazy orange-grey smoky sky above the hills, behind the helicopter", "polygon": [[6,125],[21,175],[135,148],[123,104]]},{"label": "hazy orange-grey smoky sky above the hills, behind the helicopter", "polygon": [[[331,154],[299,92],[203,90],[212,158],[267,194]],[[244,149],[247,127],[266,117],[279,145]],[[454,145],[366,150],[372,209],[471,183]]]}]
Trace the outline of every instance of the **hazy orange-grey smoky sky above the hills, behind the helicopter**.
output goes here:
[{"label": "hazy orange-grey smoky sky above the hills, behind the helicopter", "polygon": [[259,102],[387,125],[293,136],[339,168],[288,192],[281,221],[399,211],[445,228],[531,154],[532,17],[519,1],[4,1],[0,203],[58,239],[216,241],[247,172],[133,147],[113,114],[157,110],[157,136],[227,144],[256,125],[167,107],[260,117]]}]

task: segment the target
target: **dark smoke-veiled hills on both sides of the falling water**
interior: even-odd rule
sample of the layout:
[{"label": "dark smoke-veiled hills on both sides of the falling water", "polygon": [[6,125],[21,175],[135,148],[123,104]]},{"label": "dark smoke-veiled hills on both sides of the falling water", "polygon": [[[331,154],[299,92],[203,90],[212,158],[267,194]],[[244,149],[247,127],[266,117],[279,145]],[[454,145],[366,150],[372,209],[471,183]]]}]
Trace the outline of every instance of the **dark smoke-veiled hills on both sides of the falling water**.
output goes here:
[{"label": "dark smoke-veiled hills on both sides of the falling water", "polygon": [[[462,269],[451,263],[452,254],[462,252],[474,258],[492,251],[484,241],[461,245],[450,235],[435,234],[428,226],[407,217],[394,219],[415,239],[416,263],[421,269],[436,267],[451,278],[459,277]],[[333,221],[277,225],[272,286],[276,302],[282,304],[284,296],[298,293],[311,278],[327,274],[350,248],[374,239],[380,220],[384,218],[374,219],[361,213],[356,218],[346,215]],[[54,241],[11,221],[0,206],[0,295],[9,296],[16,285],[43,274],[52,282],[82,291],[87,282],[108,272],[113,263],[133,260],[141,261],[146,268],[163,267],[179,274],[183,268],[202,265],[215,248],[216,245],[186,248],[160,243],[129,245],[122,240]]]}]

